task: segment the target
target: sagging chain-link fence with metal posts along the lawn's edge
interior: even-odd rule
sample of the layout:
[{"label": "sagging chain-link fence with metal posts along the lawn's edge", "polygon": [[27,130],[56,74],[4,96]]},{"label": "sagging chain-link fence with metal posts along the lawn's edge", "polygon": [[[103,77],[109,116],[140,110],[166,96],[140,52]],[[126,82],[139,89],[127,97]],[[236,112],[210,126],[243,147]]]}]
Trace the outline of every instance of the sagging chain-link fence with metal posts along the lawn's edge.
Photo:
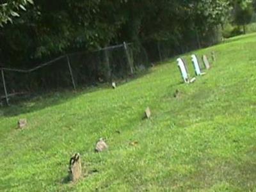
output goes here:
[{"label": "sagging chain-link fence with metal posts along the lawn's edge", "polygon": [[[215,31],[212,33],[218,34]],[[165,61],[177,54],[219,41],[218,37],[213,35],[205,35],[210,36],[212,40],[205,39],[200,33],[192,36],[195,38],[189,36],[190,41],[186,41],[186,44],[180,44],[178,40],[130,44],[124,42],[94,52],[74,52],[28,70],[2,67],[0,99],[8,104],[9,99],[16,95],[67,88],[76,90],[77,87],[86,85],[127,79],[134,73],[147,69],[151,63]]]}]

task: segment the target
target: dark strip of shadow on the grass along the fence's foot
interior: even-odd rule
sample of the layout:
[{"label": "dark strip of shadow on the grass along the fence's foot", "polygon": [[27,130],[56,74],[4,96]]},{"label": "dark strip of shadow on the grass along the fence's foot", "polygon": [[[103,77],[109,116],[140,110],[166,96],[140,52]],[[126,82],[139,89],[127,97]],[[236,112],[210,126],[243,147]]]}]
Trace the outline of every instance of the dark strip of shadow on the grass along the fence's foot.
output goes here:
[{"label": "dark strip of shadow on the grass along the fence's foot", "polygon": [[[130,83],[150,73],[150,68],[148,68],[147,70],[134,74],[132,77],[116,81],[116,83],[118,83],[118,86],[122,86],[122,84]],[[110,83],[95,84],[86,88],[81,86],[77,88],[76,92],[70,89],[63,89],[56,90],[55,92],[33,93],[31,95],[24,95],[23,97],[13,97],[10,99],[10,106],[0,108],[0,118],[1,116],[11,117],[39,111],[49,106],[56,106],[68,102],[68,100],[76,99],[84,94],[106,89],[112,89]]]}]

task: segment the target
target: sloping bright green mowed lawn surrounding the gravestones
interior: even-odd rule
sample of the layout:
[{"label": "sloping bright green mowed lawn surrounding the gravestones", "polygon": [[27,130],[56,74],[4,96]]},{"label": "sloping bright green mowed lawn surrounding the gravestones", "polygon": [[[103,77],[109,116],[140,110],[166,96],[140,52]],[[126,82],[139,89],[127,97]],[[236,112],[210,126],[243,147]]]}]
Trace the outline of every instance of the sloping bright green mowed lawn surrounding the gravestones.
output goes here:
[{"label": "sloping bright green mowed lawn surrounding the gravestones", "polygon": [[[42,95],[2,109],[0,190],[256,191],[256,34],[196,53],[211,51],[216,62],[193,84],[182,83],[173,58],[116,90]],[[143,120],[147,106],[152,118]],[[23,131],[19,118],[28,119]],[[109,149],[97,154],[99,138]],[[75,152],[84,176],[72,184]]]}]

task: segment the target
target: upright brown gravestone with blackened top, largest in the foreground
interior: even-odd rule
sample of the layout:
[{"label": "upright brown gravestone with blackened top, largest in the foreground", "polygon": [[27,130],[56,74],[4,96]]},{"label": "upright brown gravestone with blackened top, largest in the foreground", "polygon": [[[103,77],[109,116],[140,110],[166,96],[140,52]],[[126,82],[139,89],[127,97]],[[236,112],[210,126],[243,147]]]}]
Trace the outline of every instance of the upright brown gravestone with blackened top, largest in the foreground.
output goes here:
[{"label": "upright brown gravestone with blackened top, largest in the foreground", "polygon": [[77,180],[80,179],[82,175],[82,166],[81,166],[81,158],[79,153],[74,154],[74,156],[70,158],[69,173],[70,173],[70,179],[73,182],[76,182]]}]

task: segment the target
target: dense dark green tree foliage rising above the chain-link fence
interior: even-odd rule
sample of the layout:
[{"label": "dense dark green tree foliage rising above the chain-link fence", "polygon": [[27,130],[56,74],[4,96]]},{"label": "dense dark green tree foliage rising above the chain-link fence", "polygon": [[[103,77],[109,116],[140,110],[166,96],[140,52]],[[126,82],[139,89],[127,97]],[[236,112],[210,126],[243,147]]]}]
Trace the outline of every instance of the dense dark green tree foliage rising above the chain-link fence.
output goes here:
[{"label": "dense dark green tree foliage rising above the chain-link fence", "polygon": [[[19,2],[19,1],[17,1]],[[26,1],[24,1],[26,2]],[[228,0],[35,0],[26,12],[0,28],[0,60],[22,63],[111,44],[170,40],[173,46],[214,42],[225,22]],[[20,64],[21,63],[21,64]]]}]

